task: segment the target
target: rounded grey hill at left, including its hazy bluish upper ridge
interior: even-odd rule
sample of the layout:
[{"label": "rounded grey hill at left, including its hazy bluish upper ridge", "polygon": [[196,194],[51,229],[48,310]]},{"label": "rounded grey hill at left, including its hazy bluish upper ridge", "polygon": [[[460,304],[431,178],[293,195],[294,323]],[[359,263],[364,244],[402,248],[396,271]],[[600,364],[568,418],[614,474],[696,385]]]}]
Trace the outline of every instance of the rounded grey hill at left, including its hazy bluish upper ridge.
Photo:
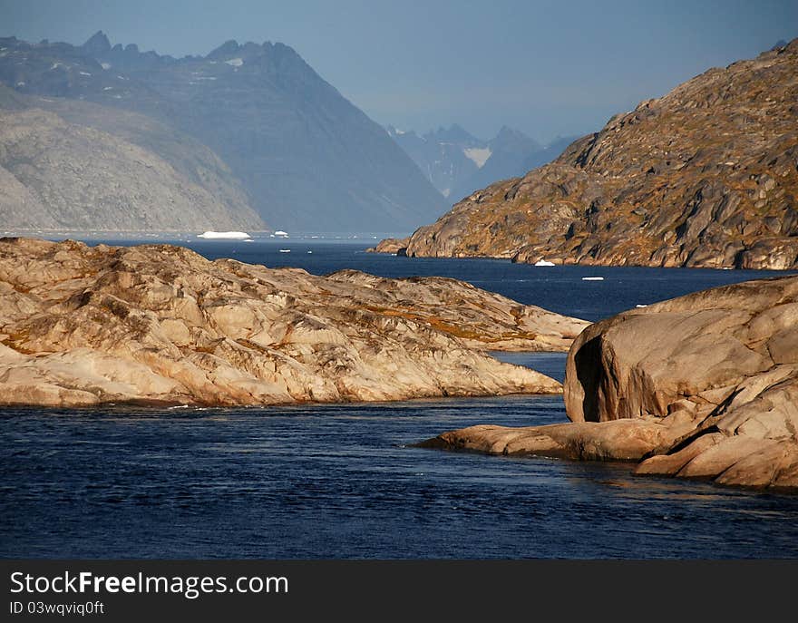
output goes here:
[{"label": "rounded grey hill at left, including its hazy bluish upper ridge", "polygon": [[263,229],[207,147],[148,117],[0,84],[4,229]]}]

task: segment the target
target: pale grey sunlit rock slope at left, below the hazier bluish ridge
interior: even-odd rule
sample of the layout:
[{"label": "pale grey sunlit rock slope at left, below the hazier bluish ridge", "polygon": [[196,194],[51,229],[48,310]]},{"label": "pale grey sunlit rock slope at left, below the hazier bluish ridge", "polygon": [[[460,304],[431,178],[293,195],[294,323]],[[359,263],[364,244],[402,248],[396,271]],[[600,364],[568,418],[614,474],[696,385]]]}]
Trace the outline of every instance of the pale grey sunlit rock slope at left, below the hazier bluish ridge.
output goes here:
[{"label": "pale grey sunlit rock slope at left, below the hazier bluish ridge", "polygon": [[236,199],[119,135],[41,109],[0,110],[4,228],[262,229]]}]

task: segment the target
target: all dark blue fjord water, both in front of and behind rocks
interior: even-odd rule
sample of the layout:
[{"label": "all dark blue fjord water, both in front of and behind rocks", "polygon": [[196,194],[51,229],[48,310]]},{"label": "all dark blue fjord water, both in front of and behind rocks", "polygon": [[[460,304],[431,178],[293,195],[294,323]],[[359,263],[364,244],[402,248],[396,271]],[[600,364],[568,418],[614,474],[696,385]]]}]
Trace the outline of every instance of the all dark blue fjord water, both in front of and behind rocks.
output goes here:
[{"label": "all dark blue fjord water, both in front of and behind rocks", "polygon": [[[443,275],[596,320],[754,271],[536,268],[317,241],[191,242],[316,274]],[[279,249],[290,248],[290,253]],[[313,251],[307,253],[307,251]],[[582,281],[582,277],[604,277]],[[501,358],[562,377],[564,354]],[[798,496],[625,463],[422,450],[475,423],[566,419],[559,396],[248,409],[0,411],[0,556],[798,558]]]}]

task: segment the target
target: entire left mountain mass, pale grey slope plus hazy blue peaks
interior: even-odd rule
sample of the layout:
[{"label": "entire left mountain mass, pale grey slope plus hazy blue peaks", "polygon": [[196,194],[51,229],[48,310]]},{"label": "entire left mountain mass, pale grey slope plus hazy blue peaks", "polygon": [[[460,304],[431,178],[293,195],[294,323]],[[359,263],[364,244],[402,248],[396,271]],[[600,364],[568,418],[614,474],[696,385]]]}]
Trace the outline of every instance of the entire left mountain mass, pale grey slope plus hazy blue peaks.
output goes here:
[{"label": "entire left mountain mass, pale grey slope plus hazy blue peaks", "polygon": [[7,37],[0,83],[7,229],[407,231],[446,207],[285,44],[176,59],[102,32],[81,46]]}]

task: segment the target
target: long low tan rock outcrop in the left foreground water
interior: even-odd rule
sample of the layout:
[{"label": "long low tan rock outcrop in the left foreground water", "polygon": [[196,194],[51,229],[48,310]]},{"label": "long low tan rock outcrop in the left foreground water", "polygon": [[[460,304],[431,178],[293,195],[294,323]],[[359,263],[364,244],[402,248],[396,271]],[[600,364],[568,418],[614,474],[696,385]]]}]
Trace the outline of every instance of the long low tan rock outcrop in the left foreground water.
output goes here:
[{"label": "long low tan rock outcrop in the left foreground water", "polygon": [[564,350],[587,324],[453,279],[0,239],[0,404],[559,393],[483,351]]}]

